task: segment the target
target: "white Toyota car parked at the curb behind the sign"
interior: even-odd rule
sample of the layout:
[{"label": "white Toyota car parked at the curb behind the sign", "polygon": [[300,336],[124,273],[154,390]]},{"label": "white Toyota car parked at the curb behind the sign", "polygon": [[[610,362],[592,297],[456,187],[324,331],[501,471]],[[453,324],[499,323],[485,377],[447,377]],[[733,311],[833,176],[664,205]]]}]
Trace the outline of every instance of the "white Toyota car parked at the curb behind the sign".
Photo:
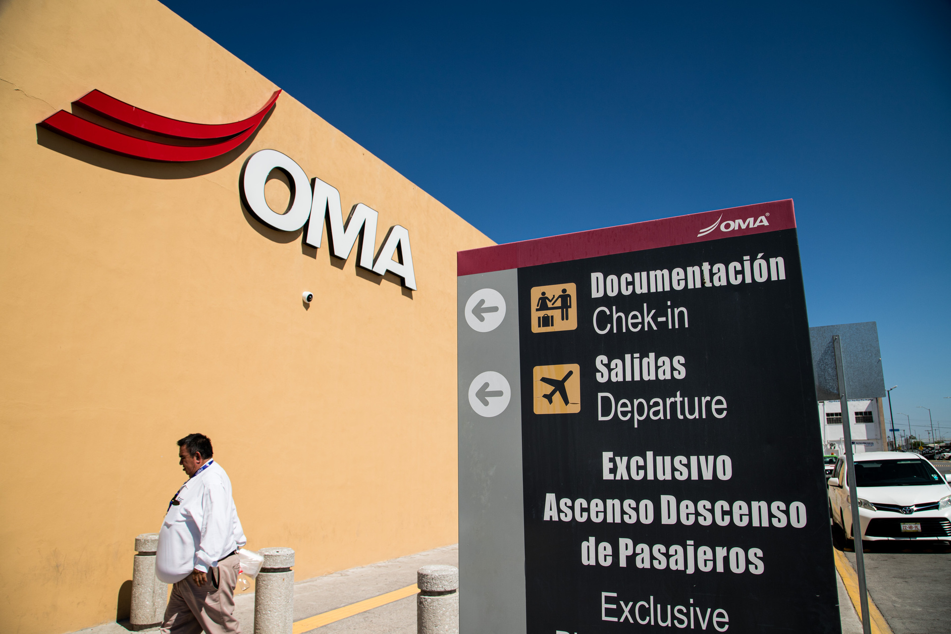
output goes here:
[{"label": "white Toyota car parked at the curb behind the sign", "polygon": [[[930,462],[901,451],[857,453],[853,460],[862,539],[951,541],[951,486]],[[844,458],[828,480],[828,494],[832,521],[852,539]]]}]

